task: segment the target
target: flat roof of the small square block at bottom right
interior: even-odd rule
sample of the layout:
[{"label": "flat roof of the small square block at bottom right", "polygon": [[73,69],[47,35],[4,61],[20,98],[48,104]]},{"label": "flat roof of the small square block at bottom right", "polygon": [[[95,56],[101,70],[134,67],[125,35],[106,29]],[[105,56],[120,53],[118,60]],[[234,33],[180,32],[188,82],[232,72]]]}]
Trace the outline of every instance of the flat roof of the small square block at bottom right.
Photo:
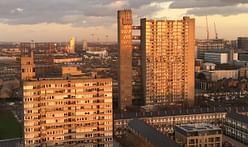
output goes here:
[{"label": "flat roof of the small square block at bottom right", "polygon": [[192,133],[192,132],[207,132],[207,131],[220,131],[221,128],[218,126],[214,126],[209,123],[195,123],[195,124],[182,124],[176,125],[177,129],[185,133]]}]

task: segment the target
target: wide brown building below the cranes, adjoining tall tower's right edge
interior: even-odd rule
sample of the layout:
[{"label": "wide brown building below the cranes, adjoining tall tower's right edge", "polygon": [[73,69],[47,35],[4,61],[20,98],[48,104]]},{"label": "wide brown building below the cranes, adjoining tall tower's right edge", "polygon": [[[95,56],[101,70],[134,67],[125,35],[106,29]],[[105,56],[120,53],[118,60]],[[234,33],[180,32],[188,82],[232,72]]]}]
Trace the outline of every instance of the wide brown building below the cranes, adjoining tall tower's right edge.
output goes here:
[{"label": "wide brown building below the cranes, adjoining tall tower's right edge", "polygon": [[212,50],[223,50],[224,39],[199,39],[196,41],[197,59],[204,59],[204,53]]}]

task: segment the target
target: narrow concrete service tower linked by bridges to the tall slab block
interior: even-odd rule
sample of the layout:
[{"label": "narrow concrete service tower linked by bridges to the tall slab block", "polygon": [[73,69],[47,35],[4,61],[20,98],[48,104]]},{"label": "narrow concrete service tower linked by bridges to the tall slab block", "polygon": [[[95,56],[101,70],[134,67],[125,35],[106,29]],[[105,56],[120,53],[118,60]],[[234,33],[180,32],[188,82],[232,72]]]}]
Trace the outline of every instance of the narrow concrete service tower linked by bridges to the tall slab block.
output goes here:
[{"label": "narrow concrete service tower linked by bridges to the tall slab block", "polygon": [[132,105],[132,11],[118,11],[119,107]]}]

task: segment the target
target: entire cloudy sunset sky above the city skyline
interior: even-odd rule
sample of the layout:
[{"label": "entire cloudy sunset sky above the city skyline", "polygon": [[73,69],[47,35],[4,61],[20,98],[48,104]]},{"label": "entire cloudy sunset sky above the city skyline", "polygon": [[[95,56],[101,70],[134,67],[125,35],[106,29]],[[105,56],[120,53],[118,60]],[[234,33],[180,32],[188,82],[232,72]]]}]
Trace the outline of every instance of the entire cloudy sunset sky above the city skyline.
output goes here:
[{"label": "entire cloudy sunset sky above the city skyline", "polygon": [[[116,11],[142,17],[196,18],[197,38],[248,36],[248,0],[0,0],[0,41],[116,40]],[[92,36],[92,34],[95,34]]]}]

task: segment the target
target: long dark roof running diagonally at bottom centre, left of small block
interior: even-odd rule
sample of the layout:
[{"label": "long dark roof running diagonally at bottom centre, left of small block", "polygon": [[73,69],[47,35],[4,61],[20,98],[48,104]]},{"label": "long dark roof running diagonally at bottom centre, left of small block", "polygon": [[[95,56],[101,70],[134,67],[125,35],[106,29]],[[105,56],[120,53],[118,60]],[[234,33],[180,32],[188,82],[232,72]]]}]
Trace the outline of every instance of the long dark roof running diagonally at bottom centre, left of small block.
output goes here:
[{"label": "long dark roof running diagonally at bottom centre, left of small block", "polygon": [[181,147],[181,145],[177,144],[161,132],[158,132],[155,128],[142,120],[133,119],[128,123],[128,126],[149,140],[149,142],[156,147],[164,147],[165,145],[169,147]]}]

